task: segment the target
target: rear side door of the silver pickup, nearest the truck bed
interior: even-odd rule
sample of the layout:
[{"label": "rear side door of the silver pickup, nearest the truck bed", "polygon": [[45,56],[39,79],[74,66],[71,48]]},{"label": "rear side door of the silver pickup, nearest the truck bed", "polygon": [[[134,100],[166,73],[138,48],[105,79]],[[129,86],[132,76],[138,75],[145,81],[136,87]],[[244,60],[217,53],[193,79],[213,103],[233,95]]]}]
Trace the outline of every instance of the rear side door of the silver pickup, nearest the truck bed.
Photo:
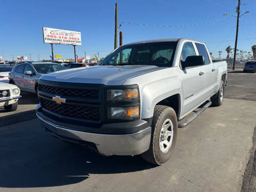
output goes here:
[{"label": "rear side door of the silver pickup, nearest the truck bed", "polygon": [[199,81],[201,82],[203,94],[202,99],[206,100],[212,96],[215,90],[215,86],[217,83],[216,70],[212,63],[212,60],[209,58],[209,54],[206,51],[204,44],[195,43],[198,55],[202,55],[204,57],[204,66],[201,67],[201,76],[199,77]]}]

